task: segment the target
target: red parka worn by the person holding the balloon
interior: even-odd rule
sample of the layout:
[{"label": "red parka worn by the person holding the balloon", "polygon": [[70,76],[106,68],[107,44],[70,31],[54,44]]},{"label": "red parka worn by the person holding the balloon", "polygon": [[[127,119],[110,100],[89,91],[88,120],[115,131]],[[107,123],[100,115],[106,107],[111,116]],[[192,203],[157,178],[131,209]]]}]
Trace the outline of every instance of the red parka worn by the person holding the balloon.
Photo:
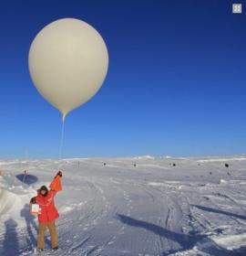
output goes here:
[{"label": "red parka worn by the person holding the balloon", "polygon": [[38,214],[38,221],[40,223],[51,222],[59,217],[54,203],[55,196],[55,190],[49,190],[46,197],[42,196],[40,193],[36,196],[36,203],[41,208],[41,214]]}]

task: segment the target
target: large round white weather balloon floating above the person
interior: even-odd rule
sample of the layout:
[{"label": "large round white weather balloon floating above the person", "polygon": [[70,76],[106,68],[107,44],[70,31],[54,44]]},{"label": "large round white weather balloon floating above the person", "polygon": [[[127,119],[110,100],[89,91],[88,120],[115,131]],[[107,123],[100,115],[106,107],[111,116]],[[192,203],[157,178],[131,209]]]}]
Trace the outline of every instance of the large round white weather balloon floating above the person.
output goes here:
[{"label": "large round white weather balloon floating above the person", "polygon": [[100,89],[108,71],[108,49],[94,27],[63,18],[36,35],[28,64],[37,91],[64,120]]}]

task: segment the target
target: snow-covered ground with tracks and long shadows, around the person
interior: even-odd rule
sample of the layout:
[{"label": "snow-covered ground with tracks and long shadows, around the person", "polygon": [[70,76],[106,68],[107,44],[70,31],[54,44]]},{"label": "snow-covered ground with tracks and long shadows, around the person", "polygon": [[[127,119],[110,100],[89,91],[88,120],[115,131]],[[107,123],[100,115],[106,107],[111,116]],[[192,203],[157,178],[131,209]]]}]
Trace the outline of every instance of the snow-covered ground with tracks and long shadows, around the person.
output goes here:
[{"label": "snow-covered ground with tracks and long shadows, around the person", "polygon": [[[38,224],[28,202],[59,168],[52,255],[246,255],[246,158],[149,155],[0,160],[0,255],[32,255]],[[24,170],[37,180],[22,184]]]}]

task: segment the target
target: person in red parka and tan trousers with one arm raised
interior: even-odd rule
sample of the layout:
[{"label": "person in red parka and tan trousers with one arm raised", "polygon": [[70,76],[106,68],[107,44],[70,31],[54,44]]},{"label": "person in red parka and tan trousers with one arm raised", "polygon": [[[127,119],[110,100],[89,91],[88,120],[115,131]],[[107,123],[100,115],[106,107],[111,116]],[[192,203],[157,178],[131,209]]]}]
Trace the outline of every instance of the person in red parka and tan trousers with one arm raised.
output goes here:
[{"label": "person in red parka and tan trousers with one arm raised", "polygon": [[38,213],[38,235],[37,235],[37,250],[43,251],[45,248],[45,233],[46,228],[49,229],[51,236],[51,246],[53,250],[58,249],[58,236],[56,233],[55,220],[59,217],[55,206],[54,197],[56,192],[61,190],[60,177],[62,172],[58,171],[54,180],[50,184],[50,190],[46,186],[42,186],[37,190],[37,196],[33,197],[30,204],[37,204],[41,209]]}]

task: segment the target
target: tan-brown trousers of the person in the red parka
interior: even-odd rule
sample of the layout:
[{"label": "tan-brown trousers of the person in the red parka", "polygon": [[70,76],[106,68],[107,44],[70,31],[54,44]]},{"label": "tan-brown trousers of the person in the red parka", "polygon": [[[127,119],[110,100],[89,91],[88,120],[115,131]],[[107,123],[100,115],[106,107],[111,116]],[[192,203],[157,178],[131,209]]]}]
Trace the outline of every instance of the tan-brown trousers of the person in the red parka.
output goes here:
[{"label": "tan-brown trousers of the person in the red parka", "polygon": [[55,224],[55,221],[52,221],[52,222],[46,222],[46,223],[39,223],[38,235],[37,235],[37,248],[38,249],[45,248],[46,228],[48,228],[49,232],[50,232],[51,247],[55,248],[56,246],[58,246],[58,236],[56,233],[56,224]]}]

